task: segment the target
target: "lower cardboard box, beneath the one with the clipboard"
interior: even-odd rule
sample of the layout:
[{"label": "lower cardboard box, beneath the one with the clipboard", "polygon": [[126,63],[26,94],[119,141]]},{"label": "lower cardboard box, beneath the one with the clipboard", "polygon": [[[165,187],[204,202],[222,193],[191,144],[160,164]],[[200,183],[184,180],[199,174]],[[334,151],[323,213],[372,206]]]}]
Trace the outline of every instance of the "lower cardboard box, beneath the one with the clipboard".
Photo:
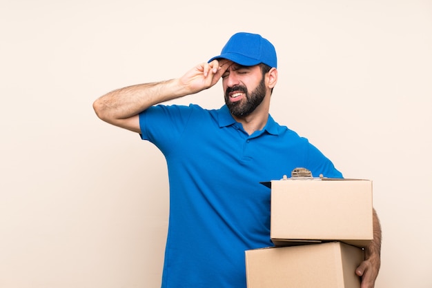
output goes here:
[{"label": "lower cardboard box, beneath the one with the clipboard", "polygon": [[248,288],[360,288],[361,248],[340,242],[246,251]]}]

